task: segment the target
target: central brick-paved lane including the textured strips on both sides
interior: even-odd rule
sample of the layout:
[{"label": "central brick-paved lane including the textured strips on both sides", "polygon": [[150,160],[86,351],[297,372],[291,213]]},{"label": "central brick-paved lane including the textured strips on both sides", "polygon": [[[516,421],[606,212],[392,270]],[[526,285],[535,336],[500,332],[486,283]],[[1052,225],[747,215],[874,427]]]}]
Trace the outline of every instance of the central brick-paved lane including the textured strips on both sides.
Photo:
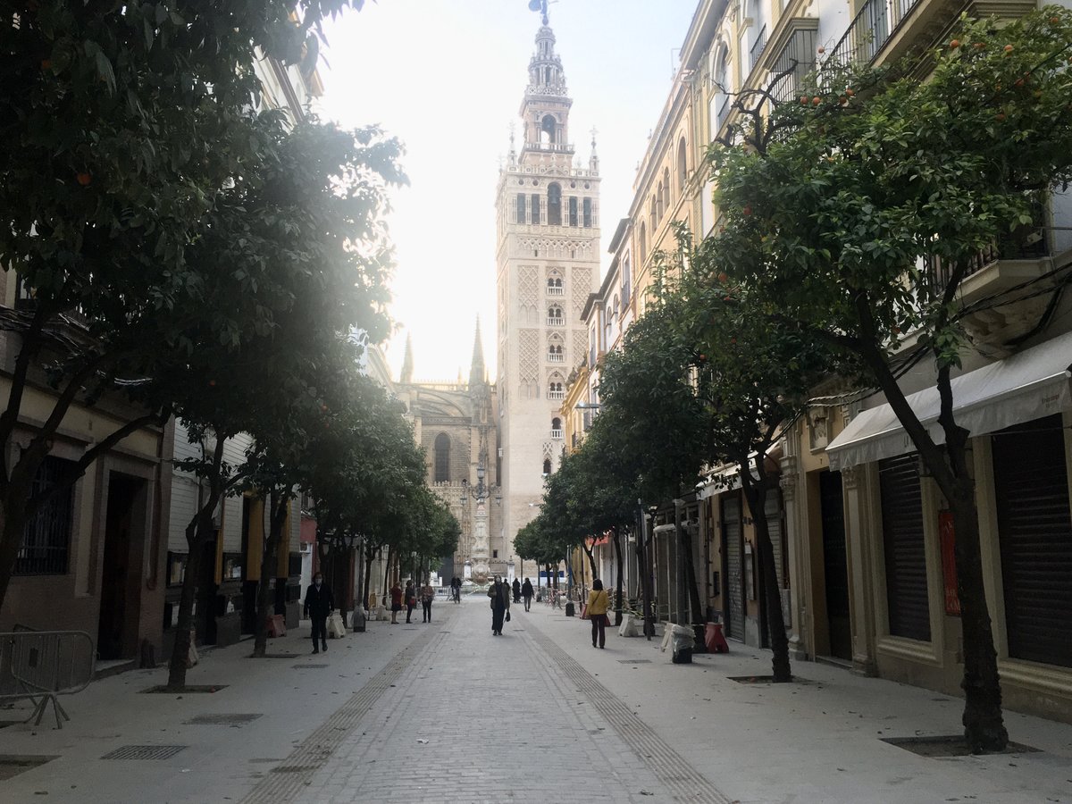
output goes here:
[{"label": "central brick-paved lane including the textured strips on both sides", "polygon": [[[451,611],[297,800],[729,801],[520,609],[502,637],[479,600]],[[247,801],[287,793],[268,778]]]}]

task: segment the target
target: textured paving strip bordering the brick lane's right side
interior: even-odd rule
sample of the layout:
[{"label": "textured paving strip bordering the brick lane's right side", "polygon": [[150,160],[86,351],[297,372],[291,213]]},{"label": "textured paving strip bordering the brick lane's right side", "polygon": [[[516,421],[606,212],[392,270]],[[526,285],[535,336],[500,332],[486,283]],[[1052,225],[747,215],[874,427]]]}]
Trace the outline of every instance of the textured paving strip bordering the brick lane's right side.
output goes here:
[{"label": "textured paving strip bordering the brick lane's right side", "polygon": [[667,786],[674,800],[693,804],[733,804],[691,763],[675,751],[640,719],[616,695],[596,681],[592,673],[574,660],[539,628],[526,631],[525,637],[539,643],[544,654],[552,659],[582,693],[602,718],[617,732],[622,741]]}]

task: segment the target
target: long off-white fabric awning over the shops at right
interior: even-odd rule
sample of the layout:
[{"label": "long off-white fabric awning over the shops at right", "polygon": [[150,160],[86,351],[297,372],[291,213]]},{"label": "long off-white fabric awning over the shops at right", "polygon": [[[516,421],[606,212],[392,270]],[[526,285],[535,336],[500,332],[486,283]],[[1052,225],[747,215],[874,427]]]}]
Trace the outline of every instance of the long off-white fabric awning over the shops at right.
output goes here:
[{"label": "long off-white fabric awning over the shops at right", "polygon": [[[992,433],[1061,411],[1072,410],[1069,377],[1072,332],[955,377],[952,382],[956,423],[973,436]],[[944,444],[938,425],[937,388],[908,397],[935,444]],[[872,463],[915,449],[889,404],[863,411],[827,447],[832,470]]]}]

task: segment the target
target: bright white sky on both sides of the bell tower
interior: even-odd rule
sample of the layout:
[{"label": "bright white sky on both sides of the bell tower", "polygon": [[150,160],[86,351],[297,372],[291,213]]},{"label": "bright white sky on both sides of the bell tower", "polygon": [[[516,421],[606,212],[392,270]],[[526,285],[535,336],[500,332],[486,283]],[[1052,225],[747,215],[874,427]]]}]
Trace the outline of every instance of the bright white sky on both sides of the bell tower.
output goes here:
[{"label": "bright white sky on both sides of the bell tower", "polygon": [[[636,167],[667,100],[696,0],[561,0],[549,6],[582,165],[598,130],[604,258],[628,212]],[[468,377],[477,315],[495,378],[495,183],[535,50],[527,0],[378,0],[328,31],[323,116],[378,123],[406,146],[411,185],[388,223],[398,268],[387,344],[394,376],[406,333],[414,378]],[[327,63],[325,63],[325,61]],[[520,146],[520,136],[518,137]]]}]

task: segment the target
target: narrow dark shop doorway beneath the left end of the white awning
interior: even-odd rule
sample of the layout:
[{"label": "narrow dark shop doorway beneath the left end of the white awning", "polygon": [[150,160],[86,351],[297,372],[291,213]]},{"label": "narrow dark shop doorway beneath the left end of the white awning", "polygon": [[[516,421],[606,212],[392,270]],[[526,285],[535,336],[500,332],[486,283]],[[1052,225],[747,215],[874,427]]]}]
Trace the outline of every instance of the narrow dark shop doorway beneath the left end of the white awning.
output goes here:
[{"label": "narrow dark shop doorway beneath the left end of the white awning", "polygon": [[819,504],[822,517],[822,565],[827,592],[827,627],[830,655],[852,658],[852,628],[849,622],[849,567],[845,553],[845,503],[842,473],[819,475]]}]

